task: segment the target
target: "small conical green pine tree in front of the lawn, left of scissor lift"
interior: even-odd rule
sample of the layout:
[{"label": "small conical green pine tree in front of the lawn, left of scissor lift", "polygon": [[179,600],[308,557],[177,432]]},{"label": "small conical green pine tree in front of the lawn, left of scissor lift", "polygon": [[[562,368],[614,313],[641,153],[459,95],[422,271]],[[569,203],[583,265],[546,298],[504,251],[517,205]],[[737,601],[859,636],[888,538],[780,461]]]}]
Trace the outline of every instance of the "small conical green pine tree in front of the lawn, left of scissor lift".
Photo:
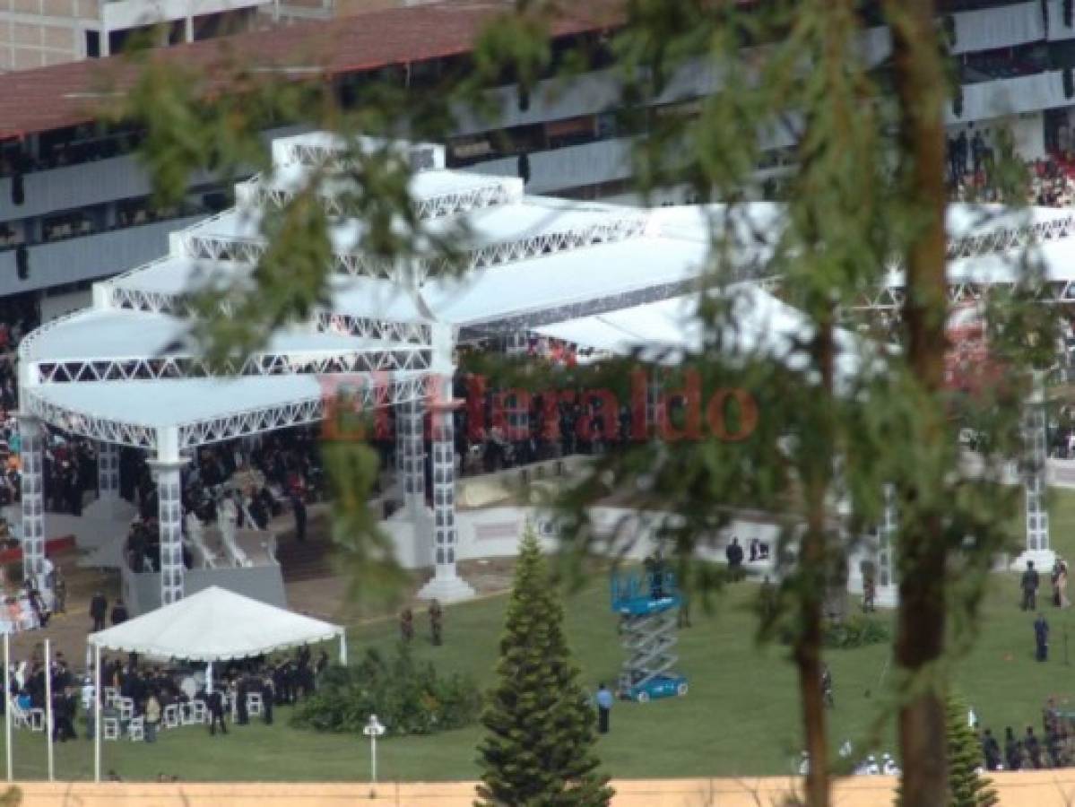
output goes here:
[{"label": "small conical green pine tree in front of the lawn, left of scissor lift", "polygon": [[482,718],[481,807],[607,807],[613,790],[593,752],[594,710],[563,636],[563,607],[528,525]]}]

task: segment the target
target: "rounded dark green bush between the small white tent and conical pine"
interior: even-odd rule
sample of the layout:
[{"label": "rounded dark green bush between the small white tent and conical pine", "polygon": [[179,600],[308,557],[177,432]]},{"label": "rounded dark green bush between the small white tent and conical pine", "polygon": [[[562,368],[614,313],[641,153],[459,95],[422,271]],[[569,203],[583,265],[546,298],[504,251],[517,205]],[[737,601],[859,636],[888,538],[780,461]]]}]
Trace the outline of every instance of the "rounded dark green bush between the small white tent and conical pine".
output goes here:
[{"label": "rounded dark green bush between the small white tent and conical pine", "polygon": [[406,645],[393,659],[368,650],[355,666],[325,671],[317,691],[296,707],[291,723],[320,732],[361,734],[376,715],[388,735],[435,734],[477,720],[482,695],[469,678],[439,676]]}]

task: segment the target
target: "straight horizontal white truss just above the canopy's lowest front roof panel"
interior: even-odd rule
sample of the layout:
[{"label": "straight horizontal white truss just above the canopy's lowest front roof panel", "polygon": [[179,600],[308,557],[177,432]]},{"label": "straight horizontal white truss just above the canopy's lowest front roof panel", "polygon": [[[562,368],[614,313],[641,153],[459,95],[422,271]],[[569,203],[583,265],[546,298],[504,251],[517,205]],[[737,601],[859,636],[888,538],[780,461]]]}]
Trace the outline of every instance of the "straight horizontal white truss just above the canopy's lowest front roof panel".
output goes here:
[{"label": "straight horizontal white truss just above the canopy's lowest front roof panel", "polygon": [[144,381],[182,378],[392,373],[429,370],[425,348],[254,354],[241,362],[214,368],[192,356],[148,359],[78,359],[32,365],[38,384],[78,381]]}]

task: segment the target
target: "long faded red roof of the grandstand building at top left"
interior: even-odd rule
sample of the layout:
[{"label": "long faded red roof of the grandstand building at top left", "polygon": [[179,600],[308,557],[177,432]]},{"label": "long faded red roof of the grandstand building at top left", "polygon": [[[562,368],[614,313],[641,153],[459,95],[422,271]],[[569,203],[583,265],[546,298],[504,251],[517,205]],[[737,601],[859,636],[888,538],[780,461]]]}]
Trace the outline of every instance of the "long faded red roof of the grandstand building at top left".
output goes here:
[{"label": "long faded red roof of the grandstand building at top left", "polygon": [[[622,19],[617,6],[606,0],[573,3],[559,11],[550,30],[568,35],[614,27]],[[153,58],[209,74],[238,57],[247,67],[340,75],[467,53],[483,26],[512,8],[503,0],[452,0],[177,45]],[[94,120],[104,96],[130,87],[137,74],[137,67],[117,56],[0,75],[0,140]]]}]

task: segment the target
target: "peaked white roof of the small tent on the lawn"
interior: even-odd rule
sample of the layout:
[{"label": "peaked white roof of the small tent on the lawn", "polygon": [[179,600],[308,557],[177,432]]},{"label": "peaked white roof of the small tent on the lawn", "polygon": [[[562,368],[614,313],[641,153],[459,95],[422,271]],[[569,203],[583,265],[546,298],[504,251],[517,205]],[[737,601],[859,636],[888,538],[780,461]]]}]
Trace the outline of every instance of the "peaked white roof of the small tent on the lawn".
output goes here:
[{"label": "peaked white roof of the small tent on the lawn", "polygon": [[91,633],[87,640],[102,650],[211,662],[262,655],[342,635],[340,625],[211,586]]}]

